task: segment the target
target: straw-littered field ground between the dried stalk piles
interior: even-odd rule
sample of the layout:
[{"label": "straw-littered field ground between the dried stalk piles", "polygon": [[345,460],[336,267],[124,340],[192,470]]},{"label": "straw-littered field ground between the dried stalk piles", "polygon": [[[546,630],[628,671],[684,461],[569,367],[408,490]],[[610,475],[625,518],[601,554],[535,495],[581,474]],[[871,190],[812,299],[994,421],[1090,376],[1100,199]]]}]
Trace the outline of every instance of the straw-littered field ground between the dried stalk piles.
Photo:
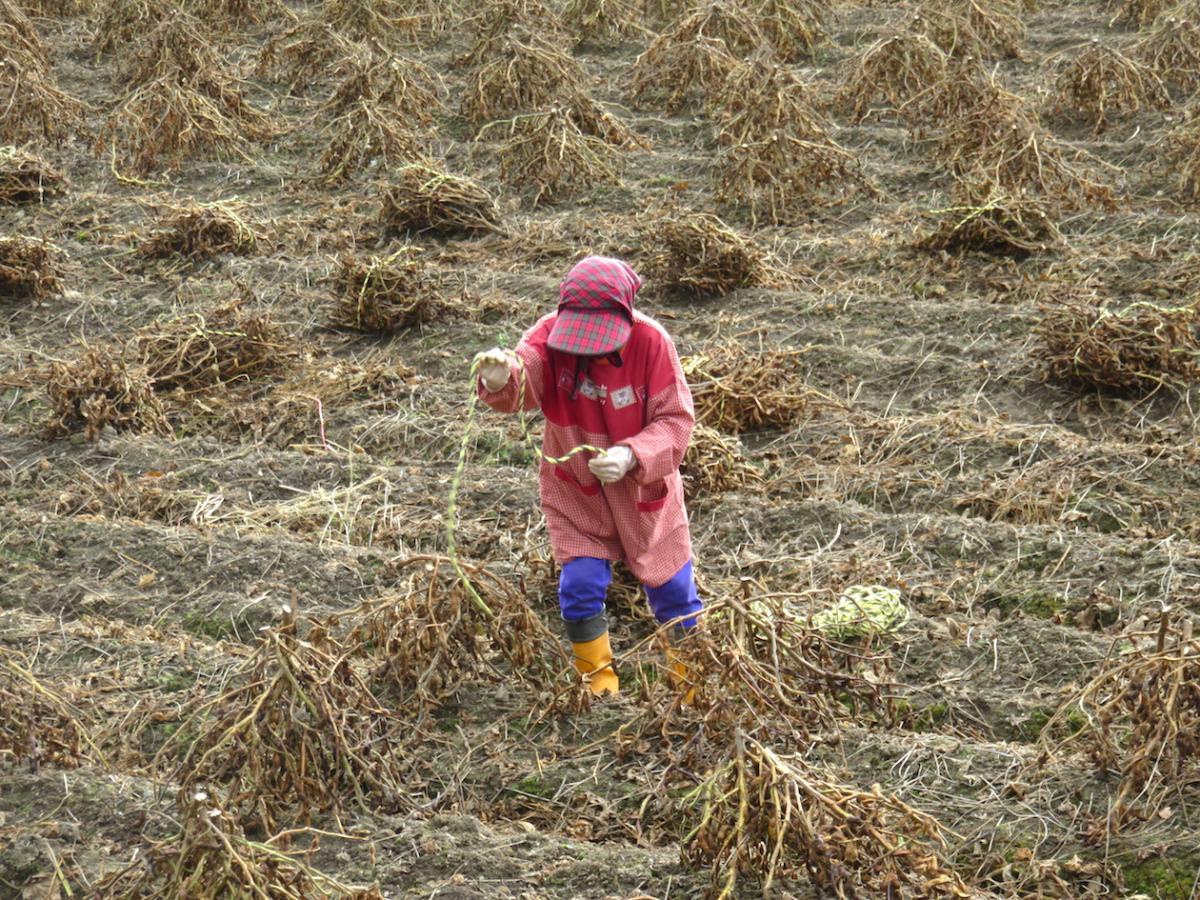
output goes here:
[{"label": "straw-littered field ground between the dried stalk piles", "polygon": [[[902,586],[912,617],[877,647],[901,713],[886,727],[847,721],[808,755],[934,815],[948,858],[979,890],[1192,898],[1200,829],[1184,785],[1152,823],[1097,842],[1090,828],[1114,775],[1074,752],[1031,768],[1043,726],[1124,635],[1157,622],[1164,602],[1180,620],[1200,612],[1193,396],[1048,383],[1031,353],[1038,304],[1080,284],[1117,305],[1194,299],[1200,216],[1157,143],[1186,97],[1117,116],[1099,134],[1056,114],[1055,54],[1092,37],[1128,47],[1136,26],[1112,22],[1103,4],[1022,10],[1021,56],[996,64],[997,74],[1066,145],[1093,155],[1116,206],[1073,212],[1062,246],[1022,258],[924,251],[917,239],[949,203],[944,169],[895,115],[854,124],[836,103],[854,54],[906,12],[838,4],[828,41],[796,64],[878,197],[814,204],[757,228],[744,211],[719,209],[776,254],[788,284],[683,299],[650,280],[642,293],[682,354],[797,348],[820,397],[790,427],[742,436],[757,481],[691,504],[702,584],[710,598],[739,593],[744,580],[761,593]],[[593,96],[648,146],[623,154],[619,186],[533,205],[500,179],[494,144],[474,142],[457,114],[466,74],[450,64],[466,38],[451,29],[404,52],[443,79],[433,152],[496,194],[505,233],[416,239],[460,301],[452,314],[390,337],[337,330],[328,323],[338,256],[384,254],[403,239],[376,222],[386,167],[336,186],[317,176],[323,148],[308,122],[319,121],[329,79],[289,90],[254,74],[280,17],[214,31],[250,79],[251,102],[287,131],[253,145],[250,160],[193,158],[136,176],[91,149],[90,131],[127,77],[121,50],[94,50],[98,14],[37,19],[59,86],[90,110],[61,143],[32,146],[66,174],[62,196],[0,209],[5,233],[53,241],[64,258],[61,292],[0,296],[0,648],[97,733],[142,725],[119,730],[127,743],[106,748],[103,761],[86,748],[79,758],[44,746],[0,754],[0,896],[88,895],[148,839],[173,833],[178,784],[155,752],[188,703],[228,684],[281,607],[319,618],[391,596],[404,559],[445,552],[470,356],[515,342],[584,253],[640,265],[655,250],[650,216],[668,204],[715,209],[713,124],[696,109],[629,102],[625,78],[648,38],[575,50]],[[142,258],[143,236],[188,198],[245,204],[257,250]],[[296,355],[281,371],[170,402],[170,437],[46,437],[38,379],[49,364],[232,299],[286,330]],[[319,414],[289,388],[354,366],[367,374],[324,395],[336,398]],[[481,419],[460,506],[463,554],[520,586],[557,629],[516,424]],[[620,653],[653,623],[629,584],[614,605]],[[656,662],[643,644],[620,667]],[[402,808],[318,816],[313,827],[341,836],[323,838],[311,863],[397,898],[700,895],[709,874],[679,851],[688,817],[643,815],[660,773],[654,746],[614,754],[611,736],[636,715],[638,692],[541,719],[533,700],[505,679],[469,683],[424,751],[437,778],[414,782]],[[1067,887],[1044,878],[1039,888],[1031,858]],[[820,895],[804,878],[779,890]],[[744,878],[738,892],[758,888]]]}]

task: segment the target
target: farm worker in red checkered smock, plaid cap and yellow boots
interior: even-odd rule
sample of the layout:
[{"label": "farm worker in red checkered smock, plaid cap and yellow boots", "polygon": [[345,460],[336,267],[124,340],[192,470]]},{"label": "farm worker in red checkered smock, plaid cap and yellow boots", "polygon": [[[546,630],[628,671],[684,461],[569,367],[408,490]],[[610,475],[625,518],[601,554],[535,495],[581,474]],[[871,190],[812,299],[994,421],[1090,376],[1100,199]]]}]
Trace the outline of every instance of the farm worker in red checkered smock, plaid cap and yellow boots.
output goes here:
[{"label": "farm worker in red checkered smock, plaid cap and yellow boots", "polygon": [[[670,335],[634,310],[641,286],[626,263],[588,257],[563,278],[558,310],[515,350],[475,358],[485,403],[546,418],[542,452],[559,461],[542,458],[539,480],[562,566],[558,602],[575,667],[596,696],[619,688],[605,617],[612,562],[642,582],[660,623],[690,629],[701,610],[679,476],[691,391]],[[560,458],[582,444],[604,452]]]}]

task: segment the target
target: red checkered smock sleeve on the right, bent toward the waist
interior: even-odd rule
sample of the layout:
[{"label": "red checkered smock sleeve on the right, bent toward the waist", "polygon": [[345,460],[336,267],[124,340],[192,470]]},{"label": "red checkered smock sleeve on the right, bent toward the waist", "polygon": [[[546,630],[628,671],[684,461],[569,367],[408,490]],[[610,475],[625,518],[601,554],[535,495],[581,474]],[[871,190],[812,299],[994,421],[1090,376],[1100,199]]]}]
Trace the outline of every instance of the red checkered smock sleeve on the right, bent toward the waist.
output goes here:
[{"label": "red checkered smock sleeve on the right, bent toward the waist", "polygon": [[632,478],[638,484],[649,485],[679,468],[696,425],[691,389],[679,365],[674,343],[665,332],[662,346],[650,366],[646,392],[647,425],[620,443],[632,450],[637,460]]}]

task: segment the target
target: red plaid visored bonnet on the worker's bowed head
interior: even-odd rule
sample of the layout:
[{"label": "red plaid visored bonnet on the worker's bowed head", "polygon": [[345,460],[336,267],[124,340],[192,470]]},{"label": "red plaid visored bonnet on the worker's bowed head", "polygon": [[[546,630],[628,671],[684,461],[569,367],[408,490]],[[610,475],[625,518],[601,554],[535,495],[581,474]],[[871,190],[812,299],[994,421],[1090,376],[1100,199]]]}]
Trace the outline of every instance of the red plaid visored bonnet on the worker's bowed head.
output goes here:
[{"label": "red plaid visored bonnet on the worker's bowed head", "polygon": [[575,264],[558,289],[558,318],[546,343],[576,356],[616,353],[634,332],[634,298],[642,287],[630,265],[610,257]]}]

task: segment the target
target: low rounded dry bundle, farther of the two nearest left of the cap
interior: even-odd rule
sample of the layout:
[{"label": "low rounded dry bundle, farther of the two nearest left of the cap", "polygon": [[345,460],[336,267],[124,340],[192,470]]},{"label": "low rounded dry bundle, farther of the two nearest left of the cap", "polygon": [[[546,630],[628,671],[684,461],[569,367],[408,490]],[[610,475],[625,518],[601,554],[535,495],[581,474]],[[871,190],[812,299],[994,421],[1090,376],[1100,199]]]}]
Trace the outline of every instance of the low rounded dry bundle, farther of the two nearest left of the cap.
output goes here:
[{"label": "low rounded dry bundle, farther of the two nearest left of the cap", "polygon": [[390,234],[449,238],[500,230],[500,211],[487,188],[432,161],[396,169],[380,197],[379,224]]}]

